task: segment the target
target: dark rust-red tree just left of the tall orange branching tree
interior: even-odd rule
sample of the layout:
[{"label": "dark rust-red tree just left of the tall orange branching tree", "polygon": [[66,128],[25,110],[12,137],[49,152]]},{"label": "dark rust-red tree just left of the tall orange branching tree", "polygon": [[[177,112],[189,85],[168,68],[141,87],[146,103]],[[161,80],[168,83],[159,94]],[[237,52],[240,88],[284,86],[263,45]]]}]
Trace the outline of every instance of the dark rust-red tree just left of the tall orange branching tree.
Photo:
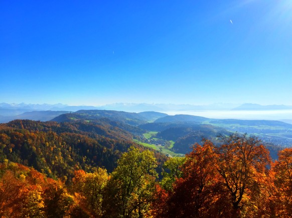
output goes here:
[{"label": "dark rust-red tree just left of the tall orange branching tree", "polygon": [[[174,160],[176,161],[176,160]],[[217,170],[214,167],[212,151],[207,143],[195,144],[193,151],[186,155],[181,167],[182,175],[176,177],[173,190],[167,194],[159,190],[153,214],[156,217],[203,217],[214,196]],[[166,197],[167,199],[163,199]],[[162,208],[162,205],[164,209]],[[207,216],[206,216],[207,217]]]}]

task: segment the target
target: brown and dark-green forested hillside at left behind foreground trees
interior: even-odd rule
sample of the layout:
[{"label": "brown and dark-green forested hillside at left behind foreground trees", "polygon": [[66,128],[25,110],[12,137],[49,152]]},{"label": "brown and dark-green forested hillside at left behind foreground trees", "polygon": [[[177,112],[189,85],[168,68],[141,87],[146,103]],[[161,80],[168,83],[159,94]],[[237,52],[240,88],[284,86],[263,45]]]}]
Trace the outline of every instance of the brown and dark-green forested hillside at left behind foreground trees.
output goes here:
[{"label": "brown and dark-green forested hillside at left behind foreground trees", "polygon": [[[132,142],[131,133],[110,124],[32,120],[0,124],[0,161],[33,166],[53,178],[70,180],[74,169],[90,171],[95,166],[111,172],[130,146],[143,148]],[[161,171],[166,156],[155,155]]]}]

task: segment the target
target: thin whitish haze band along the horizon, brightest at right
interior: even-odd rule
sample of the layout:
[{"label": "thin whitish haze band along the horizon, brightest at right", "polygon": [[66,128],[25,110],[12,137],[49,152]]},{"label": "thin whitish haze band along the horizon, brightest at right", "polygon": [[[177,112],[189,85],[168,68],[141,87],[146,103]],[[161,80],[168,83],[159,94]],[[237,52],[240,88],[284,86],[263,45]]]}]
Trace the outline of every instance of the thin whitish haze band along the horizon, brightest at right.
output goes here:
[{"label": "thin whitish haze band along the horizon, brightest at right", "polygon": [[[0,102],[0,108],[5,108],[2,106],[4,102]],[[77,107],[75,110],[81,108],[78,107],[93,107],[90,109],[107,109],[107,110],[119,110],[126,112],[142,112],[142,111],[157,111],[167,113],[169,115],[176,114],[188,114],[196,116],[204,116],[208,118],[219,118],[219,119],[266,119],[266,120],[291,120],[292,121],[292,106],[289,105],[278,105],[278,106],[288,106],[288,108],[278,108],[268,107],[265,109],[265,105],[259,104],[232,104],[232,103],[214,103],[209,105],[190,105],[190,104],[147,104],[147,103],[114,103],[105,105],[67,105],[67,104],[26,104],[24,105],[39,105],[39,107],[31,108],[31,110],[71,110],[72,107]],[[59,107],[57,107],[59,105]],[[241,108],[244,105],[249,107],[246,109]],[[19,108],[20,104],[11,105],[12,108]],[[14,107],[15,106],[15,107]],[[46,107],[45,107],[46,106]],[[238,108],[239,106],[239,108]],[[240,107],[241,106],[241,107]],[[257,108],[256,106],[260,106]],[[275,105],[270,105],[275,106]],[[66,108],[69,107],[69,108]],[[18,114],[21,114],[19,112]],[[0,112],[0,115],[1,112]],[[290,123],[290,121],[289,121]]]}]

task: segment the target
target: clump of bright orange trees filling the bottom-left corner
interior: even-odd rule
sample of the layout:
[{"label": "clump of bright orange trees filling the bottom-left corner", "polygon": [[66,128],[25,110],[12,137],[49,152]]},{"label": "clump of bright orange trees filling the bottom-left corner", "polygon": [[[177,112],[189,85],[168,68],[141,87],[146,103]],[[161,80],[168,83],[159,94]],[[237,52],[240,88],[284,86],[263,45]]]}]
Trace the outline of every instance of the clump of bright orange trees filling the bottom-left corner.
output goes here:
[{"label": "clump of bright orange trees filling the bottom-left corner", "polygon": [[8,160],[0,164],[0,217],[65,217],[71,204],[64,182]]}]

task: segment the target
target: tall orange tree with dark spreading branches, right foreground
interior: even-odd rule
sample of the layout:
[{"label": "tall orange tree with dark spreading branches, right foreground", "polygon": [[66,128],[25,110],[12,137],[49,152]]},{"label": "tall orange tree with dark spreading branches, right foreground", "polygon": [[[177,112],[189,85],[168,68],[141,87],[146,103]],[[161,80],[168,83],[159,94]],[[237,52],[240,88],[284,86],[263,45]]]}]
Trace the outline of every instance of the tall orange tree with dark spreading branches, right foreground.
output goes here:
[{"label": "tall orange tree with dark spreading branches, right foreground", "polygon": [[228,137],[222,136],[221,139],[220,146],[213,143],[209,145],[216,169],[232,203],[232,214],[250,212],[251,208],[257,208],[257,196],[268,177],[267,166],[271,163],[269,151],[254,136],[235,133]]}]

